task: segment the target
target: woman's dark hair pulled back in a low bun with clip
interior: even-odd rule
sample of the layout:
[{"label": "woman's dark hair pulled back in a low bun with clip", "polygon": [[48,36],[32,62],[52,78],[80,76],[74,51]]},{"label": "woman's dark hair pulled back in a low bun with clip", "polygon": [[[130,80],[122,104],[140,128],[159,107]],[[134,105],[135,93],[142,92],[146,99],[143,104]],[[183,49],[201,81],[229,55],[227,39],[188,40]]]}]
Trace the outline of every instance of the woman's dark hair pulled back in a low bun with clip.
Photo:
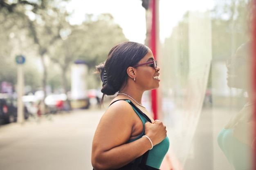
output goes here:
[{"label": "woman's dark hair pulled back in a low bun with clip", "polygon": [[127,81],[127,68],[136,65],[146,53],[148,53],[148,47],[137,42],[122,42],[110,50],[107,60],[96,66],[97,73],[101,74],[103,82],[101,89],[103,97],[114,95],[120,90]]}]

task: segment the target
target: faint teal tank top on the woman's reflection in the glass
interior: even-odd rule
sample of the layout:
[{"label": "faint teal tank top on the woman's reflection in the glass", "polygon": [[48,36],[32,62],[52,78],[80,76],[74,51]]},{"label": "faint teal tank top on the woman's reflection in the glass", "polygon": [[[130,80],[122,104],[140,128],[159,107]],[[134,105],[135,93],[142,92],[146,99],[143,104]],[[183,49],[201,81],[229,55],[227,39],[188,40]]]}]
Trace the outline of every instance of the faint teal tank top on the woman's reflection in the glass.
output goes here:
[{"label": "faint teal tank top on the woman's reflection in the glass", "polygon": [[252,148],[234,137],[234,128],[223,128],[218,134],[217,141],[235,170],[252,169]]}]

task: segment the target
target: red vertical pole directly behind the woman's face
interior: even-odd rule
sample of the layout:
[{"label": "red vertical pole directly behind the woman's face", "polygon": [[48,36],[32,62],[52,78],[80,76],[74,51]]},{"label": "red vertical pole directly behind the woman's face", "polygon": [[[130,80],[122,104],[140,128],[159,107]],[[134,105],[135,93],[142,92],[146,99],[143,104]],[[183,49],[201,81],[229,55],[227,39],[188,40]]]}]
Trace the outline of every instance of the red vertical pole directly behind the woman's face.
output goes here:
[{"label": "red vertical pole directly behind the woman's face", "polygon": [[[150,0],[150,9],[152,11],[152,25],[150,32],[150,49],[157,60],[157,5],[156,0]],[[151,91],[151,106],[154,119],[157,119],[157,90]]]}]

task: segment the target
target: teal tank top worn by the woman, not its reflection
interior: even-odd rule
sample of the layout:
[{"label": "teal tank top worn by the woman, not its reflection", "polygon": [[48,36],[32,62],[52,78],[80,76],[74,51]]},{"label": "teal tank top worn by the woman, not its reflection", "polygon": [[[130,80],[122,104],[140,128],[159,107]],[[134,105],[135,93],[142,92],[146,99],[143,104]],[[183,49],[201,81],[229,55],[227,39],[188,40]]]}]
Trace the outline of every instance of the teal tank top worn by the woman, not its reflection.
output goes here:
[{"label": "teal tank top worn by the woman, not its reflection", "polygon": [[[125,101],[128,103],[131,102],[130,100],[125,100]],[[141,133],[141,135],[139,135],[139,137],[128,141],[128,143],[135,141],[135,140],[141,138],[143,135],[145,135],[144,134],[144,130],[145,130],[144,124],[147,121],[147,119],[137,111],[138,108],[135,108],[133,106],[132,106],[132,108],[137,113],[137,115],[140,117],[141,121],[143,122],[143,132]],[[166,137],[161,143],[155,145],[153,147],[153,149],[149,150],[146,165],[159,169],[161,166],[161,163],[164,159],[164,156],[168,152],[169,146],[170,146],[170,142],[169,142],[168,137]]]}]

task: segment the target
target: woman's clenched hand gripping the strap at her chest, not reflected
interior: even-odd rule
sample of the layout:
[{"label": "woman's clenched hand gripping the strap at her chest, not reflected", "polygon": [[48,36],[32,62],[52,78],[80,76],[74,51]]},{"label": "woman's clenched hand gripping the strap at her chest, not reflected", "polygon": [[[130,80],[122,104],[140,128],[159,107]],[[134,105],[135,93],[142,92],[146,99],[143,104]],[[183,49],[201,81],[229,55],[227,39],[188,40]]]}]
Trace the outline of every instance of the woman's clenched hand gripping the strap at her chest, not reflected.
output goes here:
[{"label": "woman's clenched hand gripping the strap at her chest, not reflected", "polygon": [[154,122],[145,123],[145,135],[147,135],[153,142],[153,146],[159,144],[166,138],[166,126],[160,120],[155,120]]}]

